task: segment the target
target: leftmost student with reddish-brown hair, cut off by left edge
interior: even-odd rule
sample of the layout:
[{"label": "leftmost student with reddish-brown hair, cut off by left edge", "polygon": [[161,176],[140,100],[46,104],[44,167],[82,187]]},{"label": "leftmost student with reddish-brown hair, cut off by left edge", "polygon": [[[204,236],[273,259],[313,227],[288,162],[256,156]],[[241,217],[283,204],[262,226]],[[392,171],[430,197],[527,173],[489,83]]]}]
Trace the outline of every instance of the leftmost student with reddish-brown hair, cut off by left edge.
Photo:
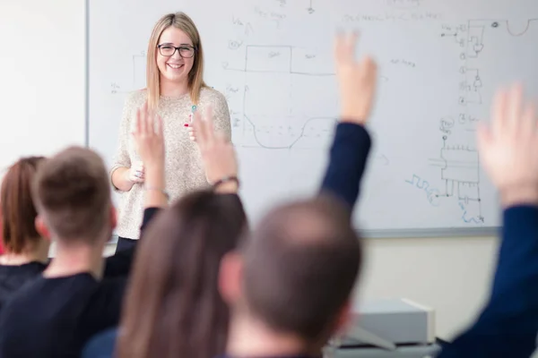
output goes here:
[{"label": "leftmost student with reddish-brown hair, cut off by left edge", "polygon": [[31,182],[44,159],[19,159],[2,181],[0,213],[4,255],[0,256],[0,309],[15,290],[48,265],[50,242],[36,230],[38,213],[31,196]]}]

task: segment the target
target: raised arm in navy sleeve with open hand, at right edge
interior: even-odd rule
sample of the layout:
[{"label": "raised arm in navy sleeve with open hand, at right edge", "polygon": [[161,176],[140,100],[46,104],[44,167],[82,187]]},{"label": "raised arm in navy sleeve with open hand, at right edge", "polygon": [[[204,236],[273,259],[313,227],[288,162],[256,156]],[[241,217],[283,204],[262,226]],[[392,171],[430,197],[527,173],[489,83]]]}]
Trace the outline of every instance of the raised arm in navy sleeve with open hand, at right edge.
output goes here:
[{"label": "raised arm in navy sleeve with open hand, at right edge", "polygon": [[490,299],[439,358],[523,358],[538,331],[538,122],[521,86],[499,90],[491,128],[479,127],[484,168],[499,190],[503,228]]}]

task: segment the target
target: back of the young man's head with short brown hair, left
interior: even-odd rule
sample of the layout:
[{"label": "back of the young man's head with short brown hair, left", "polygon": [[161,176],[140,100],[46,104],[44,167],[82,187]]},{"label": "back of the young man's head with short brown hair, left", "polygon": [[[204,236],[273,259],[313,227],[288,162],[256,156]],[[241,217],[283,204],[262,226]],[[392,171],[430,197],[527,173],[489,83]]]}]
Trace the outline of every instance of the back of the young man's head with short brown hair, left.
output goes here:
[{"label": "back of the young man's head with short brown hair, left", "polygon": [[95,243],[111,234],[107,170],[91,149],[70,147],[39,168],[34,183],[39,215],[59,243]]}]

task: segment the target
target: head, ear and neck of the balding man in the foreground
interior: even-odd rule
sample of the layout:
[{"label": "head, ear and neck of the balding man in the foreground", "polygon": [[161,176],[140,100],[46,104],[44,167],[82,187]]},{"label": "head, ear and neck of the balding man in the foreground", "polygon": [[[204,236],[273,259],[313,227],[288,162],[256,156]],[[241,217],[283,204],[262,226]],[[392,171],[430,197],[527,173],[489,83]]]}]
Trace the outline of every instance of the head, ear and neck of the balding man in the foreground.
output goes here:
[{"label": "head, ear and neck of the balding man in the foreground", "polygon": [[351,317],[360,240],[332,197],[273,209],[221,266],[232,357],[316,357]]}]

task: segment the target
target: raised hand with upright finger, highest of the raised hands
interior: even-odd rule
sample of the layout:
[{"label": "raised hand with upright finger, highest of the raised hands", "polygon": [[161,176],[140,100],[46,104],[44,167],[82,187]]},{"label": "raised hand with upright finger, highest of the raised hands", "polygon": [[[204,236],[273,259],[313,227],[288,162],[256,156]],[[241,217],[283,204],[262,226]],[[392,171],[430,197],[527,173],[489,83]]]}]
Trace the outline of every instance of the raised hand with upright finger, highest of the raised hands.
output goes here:
[{"label": "raised hand with upright finger, highest of the raised hands", "polygon": [[359,62],[355,59],[358,38],[355,32],[336,36],[334,61],[342,101],[341,119],[365,124],[376,95],[377,64],[369,56]]}]

